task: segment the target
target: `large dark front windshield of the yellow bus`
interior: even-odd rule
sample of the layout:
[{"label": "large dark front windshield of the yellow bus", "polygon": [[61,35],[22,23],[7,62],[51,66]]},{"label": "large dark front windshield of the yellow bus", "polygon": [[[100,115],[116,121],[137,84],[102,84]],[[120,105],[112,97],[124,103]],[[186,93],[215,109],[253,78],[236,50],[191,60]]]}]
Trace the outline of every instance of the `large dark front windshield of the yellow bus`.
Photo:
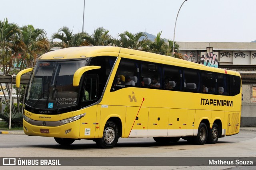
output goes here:
[{"label": "large dark front windshield of the yellow bus", "polygon": [[26,105],[32,109],[57,110],[78,104],[79,86],[73,76],[86,65],[79,61],[38,61],[30,79]]}]

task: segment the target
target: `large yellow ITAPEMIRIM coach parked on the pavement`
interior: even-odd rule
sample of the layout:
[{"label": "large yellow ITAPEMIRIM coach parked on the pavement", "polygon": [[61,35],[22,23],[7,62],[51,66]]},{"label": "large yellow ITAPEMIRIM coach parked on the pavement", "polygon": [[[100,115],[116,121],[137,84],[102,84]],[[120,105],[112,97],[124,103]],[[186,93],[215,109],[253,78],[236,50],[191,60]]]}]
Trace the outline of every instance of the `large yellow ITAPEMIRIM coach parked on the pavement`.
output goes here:
[{"label": "large yellow ITAPEMIRIM coach parked on the pavement", "polygon": [[118,138],[180,138],[204,145],[240,129],[238,72],[164,55],[94,46],[42,55],[32,71],[24,110],[26,135],[61,145],[92,139],[112,148]]}]

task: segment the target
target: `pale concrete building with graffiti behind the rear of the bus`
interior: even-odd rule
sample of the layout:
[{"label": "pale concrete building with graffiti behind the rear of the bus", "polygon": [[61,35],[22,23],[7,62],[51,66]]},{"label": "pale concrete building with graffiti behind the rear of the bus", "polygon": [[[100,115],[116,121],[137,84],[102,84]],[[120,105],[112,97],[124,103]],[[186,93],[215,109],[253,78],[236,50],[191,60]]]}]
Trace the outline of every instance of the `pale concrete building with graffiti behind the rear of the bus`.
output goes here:
[{"label": "pale concrete building with graffiti behind the rear of the bus", "polygon": [[256,43],[176,43],[185,60],[236,70],[241,74],[241,126],[256,127]]}]

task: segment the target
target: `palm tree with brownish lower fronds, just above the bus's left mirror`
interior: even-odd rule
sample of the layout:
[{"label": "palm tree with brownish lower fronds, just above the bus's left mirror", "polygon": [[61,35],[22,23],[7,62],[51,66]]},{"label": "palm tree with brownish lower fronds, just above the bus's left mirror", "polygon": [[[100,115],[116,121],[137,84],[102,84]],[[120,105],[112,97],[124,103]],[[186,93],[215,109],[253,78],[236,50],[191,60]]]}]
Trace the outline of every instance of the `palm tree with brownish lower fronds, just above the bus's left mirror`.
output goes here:
[{"label": "palm tree with brownish lower fronds, just above the bus's left mirror", "polygon": [[21,27],[21,33],[21,39],[26,45],[26,51],[22,56],[27,61],[27,67],[30,68],[34,66],[40,55],[49,51],[50,43],[44,29],[35,29],[32,25],[28,25]]}]

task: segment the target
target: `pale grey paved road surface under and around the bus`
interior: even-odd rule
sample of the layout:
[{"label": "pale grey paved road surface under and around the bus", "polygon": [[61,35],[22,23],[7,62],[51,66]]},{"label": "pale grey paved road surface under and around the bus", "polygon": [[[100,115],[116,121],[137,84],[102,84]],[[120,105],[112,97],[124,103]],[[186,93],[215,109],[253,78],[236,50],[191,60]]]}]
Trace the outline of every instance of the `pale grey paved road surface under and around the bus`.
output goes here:
[{"label": "pale grey paved road surface under and around the bus", "polygon": [[[214,145],[178,143],[158,144],[153,138],[120,138],[113,149],[98,149],[90,140],[75,141],[68,147],[58,145],[53,138],[26,135],[0,135],[0,157],[256,157],[256,132],[240,131],[238,135],[220,138]],[[4,169],[45,169],[45,167],[9,167]],[[120,169],[120,166],[62,166],[50,169]],[[256,169],[256,166],[124,166],[122,169]],[[1,169],[1,167],[0,167]]]}]

